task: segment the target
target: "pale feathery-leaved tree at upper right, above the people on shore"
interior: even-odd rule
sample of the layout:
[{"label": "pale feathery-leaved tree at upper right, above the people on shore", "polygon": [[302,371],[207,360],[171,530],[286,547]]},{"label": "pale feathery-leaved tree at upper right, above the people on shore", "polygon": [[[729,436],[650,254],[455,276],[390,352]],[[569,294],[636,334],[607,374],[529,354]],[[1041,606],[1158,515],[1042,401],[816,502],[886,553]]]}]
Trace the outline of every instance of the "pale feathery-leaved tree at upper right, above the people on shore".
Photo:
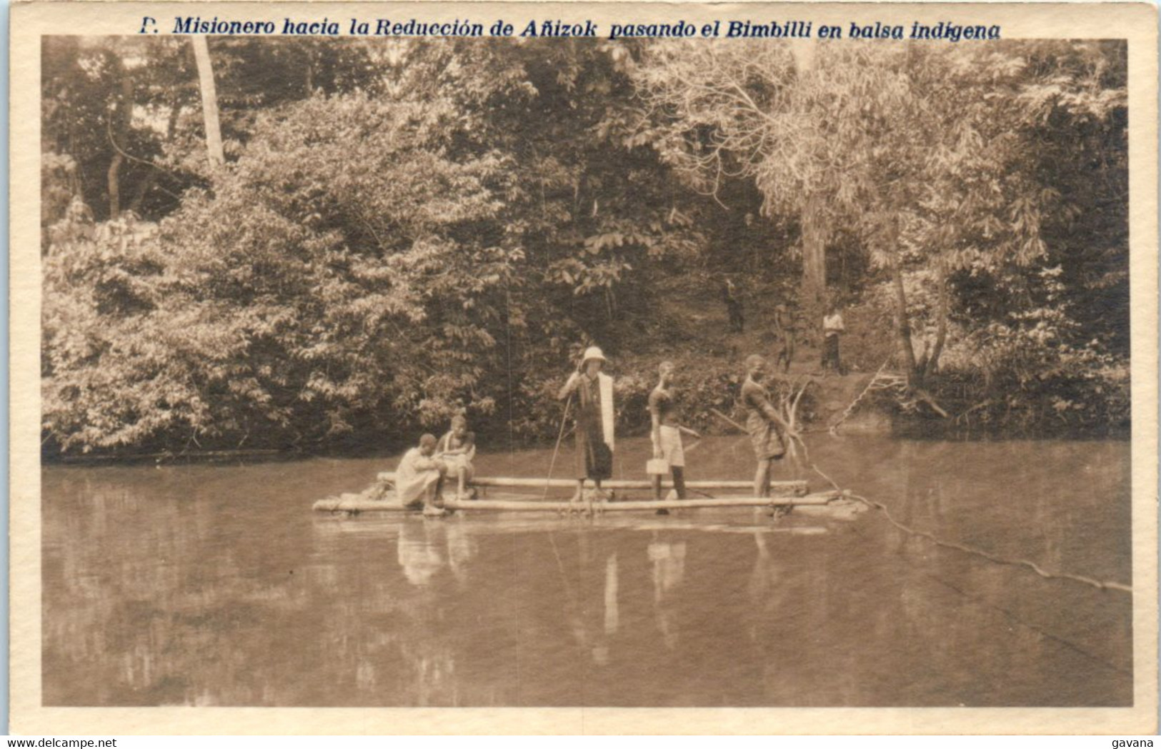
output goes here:
[{"label": "pale feathery-leaved tree at upper right, above the people on shore", "polygon": [[[1068,208],[1051,170],[1080,175],[1086,152],[1123,154],[1118,60],[1106,44],[877,42],[820,46],[803,66],[788,43],[678,42],[649,48],[636,80],[646,129],[695,184],[715,192],[723,176],[752,179],[767,214],[800,217],[808,301],[822,272],[812,248],[825,237],[843,231],[870,252],[889,279],[903,370],[921,391],[946,346],[951,279],[1044,262],[1047,227],[1068,224],[1079,205],[1117,202],[1103,179],[1104,195],[1087,191]],[[1069,119],[1090,134],[1069,134]],[[932,337],[918,354],[913,272],[935,286]]]}]

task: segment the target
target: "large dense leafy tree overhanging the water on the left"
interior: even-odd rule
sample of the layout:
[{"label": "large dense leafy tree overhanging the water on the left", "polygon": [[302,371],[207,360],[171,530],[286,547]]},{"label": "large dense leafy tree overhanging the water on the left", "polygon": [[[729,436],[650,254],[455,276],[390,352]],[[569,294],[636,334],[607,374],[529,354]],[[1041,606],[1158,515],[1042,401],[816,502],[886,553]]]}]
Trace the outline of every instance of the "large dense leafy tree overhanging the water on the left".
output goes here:
[{"label": "large dense leafy tree overhanging the water on the left", "polygon": [[[615,344],[646,261],[692,241],[684,192],[623,140],[633,89],[618,50],[404,43],[381,50],[375,90],[257,112],[212,191],[187,189],[161,221],[160,285],[139,327],[101,307],[75,329],[99,355],[49,352],[50,434],[110,448],[397,432],[536,398],[540,380],[514,387],[513,372],[543,377],[546,357],[592,336]],[[51,293],[93,310],[95,278],[62,277]],[[160,372],[142,365],[146,323],[150,350],[171,352]],[[111,330],[137,343],[109,346]],[[113,412],[95,388],[67,387],[94,369],[123,381]],[[137,427],[109,429],[122,420]]]}]

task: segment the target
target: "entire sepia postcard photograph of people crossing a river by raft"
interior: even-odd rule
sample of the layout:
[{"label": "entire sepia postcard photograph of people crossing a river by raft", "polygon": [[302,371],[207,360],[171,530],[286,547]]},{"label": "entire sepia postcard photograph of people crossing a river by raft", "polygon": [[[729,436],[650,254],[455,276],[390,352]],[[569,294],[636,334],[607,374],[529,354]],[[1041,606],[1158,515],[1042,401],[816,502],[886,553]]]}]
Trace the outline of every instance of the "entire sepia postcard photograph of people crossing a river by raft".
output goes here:
[{"label": "entire sepia postcard photograph of people crossing a river by raft", "polygon": [[1155,730],[1127,36],[432,6],[29,37],[36,707]]}]

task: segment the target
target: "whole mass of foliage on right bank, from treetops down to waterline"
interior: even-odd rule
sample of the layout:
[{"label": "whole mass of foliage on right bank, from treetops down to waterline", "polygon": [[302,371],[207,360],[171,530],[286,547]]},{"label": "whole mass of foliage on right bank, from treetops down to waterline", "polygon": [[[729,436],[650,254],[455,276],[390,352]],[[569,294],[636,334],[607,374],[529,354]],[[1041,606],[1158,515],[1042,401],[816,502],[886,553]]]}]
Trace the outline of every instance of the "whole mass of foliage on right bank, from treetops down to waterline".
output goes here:
[{"label": "whole mass of foliage on right bank, from treetops down to waterline", "polygon": [[913,390],[950,343],[976,405],[1127,419],[1123,44],[683,42],[637,78],[668,162],[712,191],[752,179],[767,214],[799,217],[803,291],[820,245],[878,269],[854,285]]}]

